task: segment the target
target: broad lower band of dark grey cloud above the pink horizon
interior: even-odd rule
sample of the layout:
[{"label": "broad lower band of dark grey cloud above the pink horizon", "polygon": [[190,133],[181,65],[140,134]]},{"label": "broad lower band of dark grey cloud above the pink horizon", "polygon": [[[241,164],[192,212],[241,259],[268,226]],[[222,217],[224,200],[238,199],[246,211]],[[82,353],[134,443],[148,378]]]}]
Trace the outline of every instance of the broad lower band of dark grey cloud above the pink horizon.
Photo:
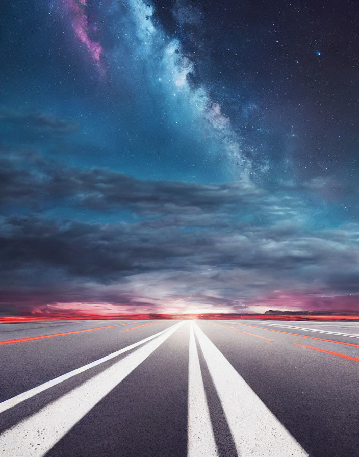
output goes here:
[{"label": "broad lower band of dark grey cloud above the pink horizon", "polygon": [[[293,291],[293,285],[298,301],[308,290],[321,297],[358,293],[359,246],[350,232],[342,235],[344,247],[335,232],[313,236],[296,228],[284,235],[275,226],[228,224],[223,214],[212,216],[205,231],[196,230],[202,216],[197,217],[192,225],[186,219],[185,227],[176,225],[181,216],[164,226],[151,220],[85,224],[9,217],[2,223],[2,268],[21,278],[19,290],[20,284],[41,285],[42,272],[49,271],[52,282],[80,284],[80,294],[74,284],[66,285],[66,293],[55,294],[56,301],[64,296],[73,301],[81,294],[82,300],[90,299],[92,293],[91,301],[96,296],[106,302],[111,296],[112,303],[163,304],[185,294],[189,302],[239,307],[273,290]],[[86,283],[92,284],[91,293],[83,293],[81,284]],[[48,284],[42,287],[48,290]]]}]

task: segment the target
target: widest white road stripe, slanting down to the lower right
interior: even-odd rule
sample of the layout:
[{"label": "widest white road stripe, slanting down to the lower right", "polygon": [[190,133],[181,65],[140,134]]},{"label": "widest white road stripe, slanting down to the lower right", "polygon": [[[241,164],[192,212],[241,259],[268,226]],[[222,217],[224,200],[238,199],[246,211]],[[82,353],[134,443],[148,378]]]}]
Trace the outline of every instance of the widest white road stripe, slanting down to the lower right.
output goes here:
[{"label": "widest white road stripe, slanting down to the lower right", "polygon": [[289,431],[197,325],[195,333],[238,454],[241,457],[307,456]]}]

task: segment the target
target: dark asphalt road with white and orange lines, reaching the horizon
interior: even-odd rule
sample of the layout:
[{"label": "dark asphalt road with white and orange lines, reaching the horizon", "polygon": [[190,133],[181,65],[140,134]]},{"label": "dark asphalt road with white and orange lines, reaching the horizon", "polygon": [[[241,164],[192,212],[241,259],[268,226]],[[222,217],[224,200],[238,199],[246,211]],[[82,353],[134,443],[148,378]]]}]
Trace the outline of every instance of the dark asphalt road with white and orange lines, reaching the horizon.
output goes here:
[{"label": "dark asphalt road with white and orange lines, reaching the horizon", "polygon": [[0,324],[0,456],[359,456],[359,323]]}]

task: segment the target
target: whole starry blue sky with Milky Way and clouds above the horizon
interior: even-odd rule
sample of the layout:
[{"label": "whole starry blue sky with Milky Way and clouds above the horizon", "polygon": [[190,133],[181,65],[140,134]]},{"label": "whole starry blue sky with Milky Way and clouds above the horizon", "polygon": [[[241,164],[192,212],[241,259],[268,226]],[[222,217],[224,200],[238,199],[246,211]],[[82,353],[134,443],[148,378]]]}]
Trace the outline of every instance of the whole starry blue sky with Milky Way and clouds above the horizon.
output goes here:
[{"label": "whole starry blue sky with Milky Way and clouds above the horizon", "polygon": [[359,310],[352,1],[0,4],[0,314]]}]

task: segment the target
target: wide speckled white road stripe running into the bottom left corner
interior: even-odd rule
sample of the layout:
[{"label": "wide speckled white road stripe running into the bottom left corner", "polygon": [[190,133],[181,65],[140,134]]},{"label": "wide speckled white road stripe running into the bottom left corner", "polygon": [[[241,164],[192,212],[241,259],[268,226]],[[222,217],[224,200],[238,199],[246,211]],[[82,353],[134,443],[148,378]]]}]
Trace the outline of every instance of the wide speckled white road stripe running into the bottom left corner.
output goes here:
[{"label": "wide speckled white road stripe running into the bottom left corner", "polygon": [[171,326],[156,339],[4,431],[0,435],[0,455],[44,456],[85,414],[182,325],[183,322],[179,322]]}]

